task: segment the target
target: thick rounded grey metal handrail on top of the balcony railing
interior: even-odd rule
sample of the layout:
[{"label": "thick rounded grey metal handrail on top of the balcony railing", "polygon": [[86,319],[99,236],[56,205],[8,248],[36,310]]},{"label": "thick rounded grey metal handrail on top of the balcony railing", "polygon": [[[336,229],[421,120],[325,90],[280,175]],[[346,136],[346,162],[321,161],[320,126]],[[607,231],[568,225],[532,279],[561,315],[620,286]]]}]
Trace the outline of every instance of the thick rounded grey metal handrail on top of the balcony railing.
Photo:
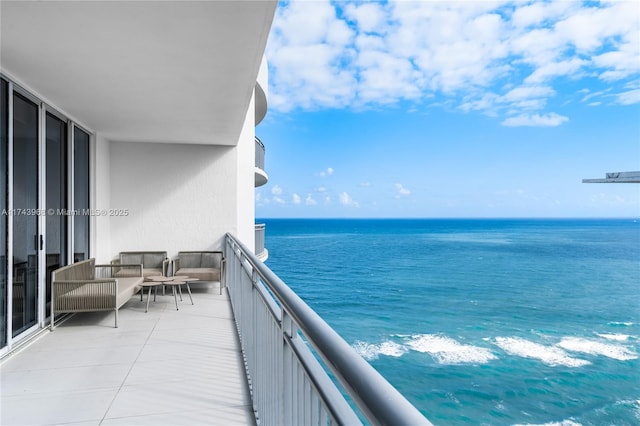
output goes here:
[{"label": "thick rounded grey metal handrail on top of the balcony railing", "polygon": [[309,344],[335,374],[358,408],[374,424],[430,425],[396,388],[311,309],[271,269],[233,235],[227,234],[269,288],[282,309],[303,332]]}]

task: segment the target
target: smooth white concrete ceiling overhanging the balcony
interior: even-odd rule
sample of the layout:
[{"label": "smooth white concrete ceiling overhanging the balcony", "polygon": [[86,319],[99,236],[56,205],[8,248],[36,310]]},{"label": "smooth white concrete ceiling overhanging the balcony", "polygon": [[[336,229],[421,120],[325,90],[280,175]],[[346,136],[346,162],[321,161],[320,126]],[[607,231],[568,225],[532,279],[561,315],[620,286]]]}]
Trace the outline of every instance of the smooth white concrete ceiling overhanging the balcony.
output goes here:
[{"label": "smooth white concrete ceiling overhanging the balcony", "polygon": [[277,1],[0,2],[0,66],[107,139],[234,145]]}]

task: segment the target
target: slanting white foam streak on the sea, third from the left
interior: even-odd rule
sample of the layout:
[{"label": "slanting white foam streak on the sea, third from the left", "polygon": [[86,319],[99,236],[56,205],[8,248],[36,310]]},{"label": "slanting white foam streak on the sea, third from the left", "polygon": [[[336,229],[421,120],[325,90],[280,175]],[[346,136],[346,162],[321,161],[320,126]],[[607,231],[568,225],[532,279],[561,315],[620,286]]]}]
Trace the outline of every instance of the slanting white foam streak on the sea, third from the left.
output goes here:
[{"label": "slanting white foam streak on the sea, third from the left", "polygon": [[587,360],[571,357],[561,348],[545,346],[519,337],[496,337],[495,344],[508,354],[539,359],[552,367],[582,367],[590,364]]}]

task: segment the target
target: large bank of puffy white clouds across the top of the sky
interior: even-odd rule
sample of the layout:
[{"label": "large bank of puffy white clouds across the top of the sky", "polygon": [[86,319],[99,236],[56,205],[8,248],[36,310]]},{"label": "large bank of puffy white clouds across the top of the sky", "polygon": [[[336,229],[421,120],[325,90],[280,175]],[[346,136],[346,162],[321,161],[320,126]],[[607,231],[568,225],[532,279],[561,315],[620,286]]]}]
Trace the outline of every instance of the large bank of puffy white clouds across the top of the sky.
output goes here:
[{"label": "large bank of puffy white clouds across the top of the sky", "polygon": [[639,32],[633,1],[291,1],[267,48],[270,107],[432,102],[545,121],[561,78],[637,77]]}]

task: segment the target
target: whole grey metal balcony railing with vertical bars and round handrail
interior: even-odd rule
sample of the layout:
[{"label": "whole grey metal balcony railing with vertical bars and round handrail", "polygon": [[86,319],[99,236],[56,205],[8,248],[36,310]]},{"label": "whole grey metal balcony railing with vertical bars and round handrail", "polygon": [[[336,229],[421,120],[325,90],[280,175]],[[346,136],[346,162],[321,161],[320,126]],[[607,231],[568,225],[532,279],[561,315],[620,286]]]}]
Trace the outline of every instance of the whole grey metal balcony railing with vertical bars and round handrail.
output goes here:
[{"label": "whole grey metal balcony railing with vertical bars and round handrail", "polygon": [[259,424],[431,424],[231,234],[226,237],[225,257],[226,283]]}]

